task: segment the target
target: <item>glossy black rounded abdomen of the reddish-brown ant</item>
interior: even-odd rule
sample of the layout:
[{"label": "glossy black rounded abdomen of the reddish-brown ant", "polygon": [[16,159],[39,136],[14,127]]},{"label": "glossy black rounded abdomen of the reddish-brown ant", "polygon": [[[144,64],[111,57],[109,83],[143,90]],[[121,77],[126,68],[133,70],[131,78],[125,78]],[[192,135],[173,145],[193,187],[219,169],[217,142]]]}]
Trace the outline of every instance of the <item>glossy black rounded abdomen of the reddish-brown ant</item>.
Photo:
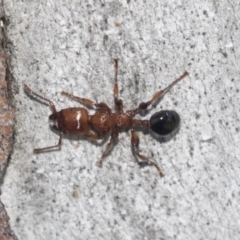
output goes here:
[{"label": "glossy black rounded abdomen of the reddish-brown ant", "polygon": [[174,134],[179,128],[179,123],[180,117],[175,111],[163,110],[150,118],[150,128],[159,136]]}]

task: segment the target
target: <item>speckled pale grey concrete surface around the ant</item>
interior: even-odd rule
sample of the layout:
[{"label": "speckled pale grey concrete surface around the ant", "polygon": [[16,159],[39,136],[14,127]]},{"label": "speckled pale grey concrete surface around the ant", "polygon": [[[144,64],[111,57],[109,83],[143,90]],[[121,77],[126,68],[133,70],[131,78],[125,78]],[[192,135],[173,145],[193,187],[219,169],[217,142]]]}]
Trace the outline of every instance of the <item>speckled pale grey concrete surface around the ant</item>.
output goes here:
[{"label": "speckled pale grey concrete surface around the ant", "polygon": [[[17,125],[2,201],[19,239],[240,239],[240,4],[229,1],[5,0],[12,41]],[[119,58],[125,109],[148,100],[186,69],[190,76],[154,106],[174,109],[181,129],[161,144],[139,132],[142,153],[161,166],[140,168],[130,133],[102,168],[107,143],[64,138],[50,109],[79,106],[62,90],[113,107]],[[92,112],[92,111],[91,111]]]}]

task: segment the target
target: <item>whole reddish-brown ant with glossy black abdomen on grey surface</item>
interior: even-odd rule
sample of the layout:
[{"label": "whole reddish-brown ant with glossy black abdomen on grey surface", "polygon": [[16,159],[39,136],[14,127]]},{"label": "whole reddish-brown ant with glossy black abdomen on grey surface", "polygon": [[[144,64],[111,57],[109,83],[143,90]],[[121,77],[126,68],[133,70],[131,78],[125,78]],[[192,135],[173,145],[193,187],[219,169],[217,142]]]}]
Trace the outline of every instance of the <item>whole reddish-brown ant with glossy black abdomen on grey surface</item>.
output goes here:
[{"label": "whole reddish-brown ant with glossy black abdomen on grey surface", "polygon": [[177,112],[162,110],[153,114],[150,120],[135,119],[134,116],[142,110],[146,110],[152,103],[159,100],[166,92],[168,92],[176,83],[188,75],[185,71],[179,78],[173,81],[169,86],[163,90],[155,93],[151,100],[142,102],[135,109],[123,111],[123,101],[118,98],[118,59],[114,59],[115,67],[115,84],[113,89],[114,103],[116,112],[112,112],[106,103],[95,103],[90,99],[74,96],[70,93],[62,91],[65,95],[73,100],[84,104],[88,108],[95,108],[96,112],[89,115],[88,110],[82,107],[66,108],[59,112],[56,110],[54,103],[33,92],[26,84],[24,90],[31,96],[35,96],[47,102],[52,110],[49,120],[52,123],[52,128],[60,133],[58,144],[54,146],[35,148],[34,153],[40,153],[49,149],[59,148],[62,144],[63,134],[83,135],[88,139],[99,140],[111,133],[111,138],[102,154],[98,164],[101,167],[103,160],[109,150],[116,143],[118,132],[120,129],[131,129],[131,146],[134,156],[137,158],[138,163],[145,162],[156,167],[160,177],[164,174],[160,167],[154,162],[149,160],[144,155],[139,153],[139,137],[134,131],[135,128],[151,129],[159,137],[166,137],[177,132],[180,124],[180,117]]}]

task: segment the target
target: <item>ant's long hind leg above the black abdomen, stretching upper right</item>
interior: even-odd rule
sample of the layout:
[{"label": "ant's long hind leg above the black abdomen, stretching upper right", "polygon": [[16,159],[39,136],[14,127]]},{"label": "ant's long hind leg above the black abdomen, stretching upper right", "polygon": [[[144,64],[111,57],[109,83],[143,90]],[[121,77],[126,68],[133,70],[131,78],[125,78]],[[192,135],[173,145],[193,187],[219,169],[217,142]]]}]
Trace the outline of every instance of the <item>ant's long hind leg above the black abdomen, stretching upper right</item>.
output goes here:
[{"label": "ant's long hind leg above the black abdomen, stretching upper right", "polygon": [[159,98],[161,98],[164,94],[166,94],[175,84],[177,84],[179,81],[181,81],[183,78],[188,76],[188,72],[185,71],[179,78],[177,78],[175,81],[173,81],[170,85],[168,85],[163,90],[158,91],[155,93],[152,97],[152,99],[148,102],[142,102],[139,104],[138,108],[134,110],[127,111],[132,117],[135,116],[139,111],[146,110],[153,102],[157,101]]}]

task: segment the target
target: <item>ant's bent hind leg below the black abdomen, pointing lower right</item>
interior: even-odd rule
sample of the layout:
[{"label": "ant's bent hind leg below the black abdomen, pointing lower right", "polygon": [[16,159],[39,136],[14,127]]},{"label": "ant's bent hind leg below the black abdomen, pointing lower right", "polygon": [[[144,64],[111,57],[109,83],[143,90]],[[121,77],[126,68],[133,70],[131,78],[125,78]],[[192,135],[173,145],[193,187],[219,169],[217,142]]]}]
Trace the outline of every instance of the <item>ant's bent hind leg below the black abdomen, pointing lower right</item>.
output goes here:
[{"label": "ant's bent hind leg below the black abdomen, pointing lower right", "polygon": [[138,163],[140,163],[139,162],[139,158],[140,158],[143,162],[152,164],[153,166],[155,166],[157,168],[160,177],[164,177],[162,170],[155,162],[150,161],[147,157],[145,157],[144,155],[141,155],[139,153],[139,137],[133,130],[131,130],[131,134],[132,134],[132,138],[131,138],[132,150],[133,150],[134,155],[137,156]]}]

